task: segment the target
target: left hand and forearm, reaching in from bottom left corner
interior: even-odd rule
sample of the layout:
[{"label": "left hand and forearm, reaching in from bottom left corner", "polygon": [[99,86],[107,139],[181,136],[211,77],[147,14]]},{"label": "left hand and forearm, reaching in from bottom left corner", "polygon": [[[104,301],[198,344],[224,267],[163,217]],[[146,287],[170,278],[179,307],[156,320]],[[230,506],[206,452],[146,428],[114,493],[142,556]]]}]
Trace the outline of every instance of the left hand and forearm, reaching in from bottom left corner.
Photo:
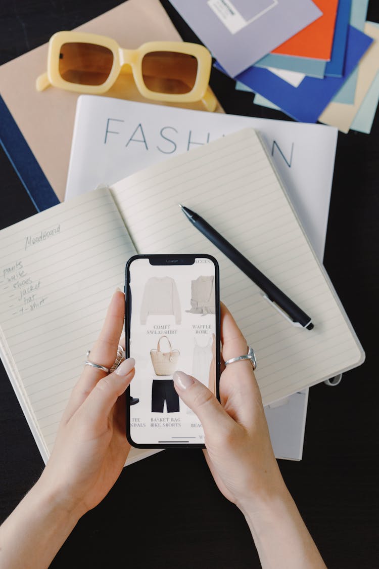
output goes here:
[{"label": "left hand and forearm, reaching in from bottom left corner", "polygon": [[[124,322],[121,291],[111,300],[90,361],[111,368]],[[109,492],[125,464],[124,391],[134,360],[115,372],[85,366],[59,426],[51,457],[36,484],[0,527],[0,565],[45,569],[76,526]]]}]

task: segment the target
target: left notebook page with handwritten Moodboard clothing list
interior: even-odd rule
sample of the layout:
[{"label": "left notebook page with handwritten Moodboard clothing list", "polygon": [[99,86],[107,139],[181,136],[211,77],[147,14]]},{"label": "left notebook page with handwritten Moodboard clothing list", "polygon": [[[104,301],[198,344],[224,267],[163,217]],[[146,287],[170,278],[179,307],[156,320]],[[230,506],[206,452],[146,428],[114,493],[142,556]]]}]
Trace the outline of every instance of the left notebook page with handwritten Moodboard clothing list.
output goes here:
[{"label": "left notebook page with handwritten Moodboard clothing list", "polygon": [[2,230],[0,244],[2,357],[46,460],[135,249],[107,189]]}]

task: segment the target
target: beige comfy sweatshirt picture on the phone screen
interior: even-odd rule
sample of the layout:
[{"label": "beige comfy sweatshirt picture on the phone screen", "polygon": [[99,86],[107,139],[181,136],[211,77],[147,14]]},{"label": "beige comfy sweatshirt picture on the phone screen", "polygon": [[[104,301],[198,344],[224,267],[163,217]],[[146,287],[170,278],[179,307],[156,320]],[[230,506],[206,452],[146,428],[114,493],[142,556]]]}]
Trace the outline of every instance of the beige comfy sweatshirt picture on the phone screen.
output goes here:
[{"label": "beige comfy sweatshirt picture on the phone screen", "polygon": [[175,323],[181,323],[178,290],[171,277],[152,277],[146,282],[141,303],[141,324],[146,324],[149,314],[174,315]]}]

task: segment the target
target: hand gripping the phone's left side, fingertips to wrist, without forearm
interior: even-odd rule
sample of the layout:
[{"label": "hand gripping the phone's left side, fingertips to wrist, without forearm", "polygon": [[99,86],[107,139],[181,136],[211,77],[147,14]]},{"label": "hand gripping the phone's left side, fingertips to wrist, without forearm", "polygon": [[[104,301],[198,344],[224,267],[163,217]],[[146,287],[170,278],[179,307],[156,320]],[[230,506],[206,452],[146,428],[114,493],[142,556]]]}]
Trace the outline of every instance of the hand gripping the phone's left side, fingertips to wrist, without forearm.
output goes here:
[{"label": "hand gripping the phone's left side, fingertips to wrist, without forearm", "polygon": [[[124,323],[125,298],[116,291],[89,360],[111,368]],[[106,375],[86,365],[64,411],[51,457],[39,480],[78,517],[109,492],[125,464],[124,391],[134,377],[133,358]]]}]

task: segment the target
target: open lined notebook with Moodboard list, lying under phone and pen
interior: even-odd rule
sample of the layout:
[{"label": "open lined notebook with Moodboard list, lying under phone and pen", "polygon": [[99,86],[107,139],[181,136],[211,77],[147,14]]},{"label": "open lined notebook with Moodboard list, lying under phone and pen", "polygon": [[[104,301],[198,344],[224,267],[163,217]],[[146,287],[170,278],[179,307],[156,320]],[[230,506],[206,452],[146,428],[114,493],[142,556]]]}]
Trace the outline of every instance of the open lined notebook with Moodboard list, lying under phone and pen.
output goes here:
[{"label": "open lined notebook with Moodboard list, lying under phone and pen", "polygon": [[[314,329],[293,327],[266,303],[178,203],[223,233],[311,316]],[[253,129],[66,201],[3,229],[0,237],[1,357],[45,460],[85,353],[136,251],[198,251],[218,259],[221,298],[255,349],[265,405],[364,360]]]}]

